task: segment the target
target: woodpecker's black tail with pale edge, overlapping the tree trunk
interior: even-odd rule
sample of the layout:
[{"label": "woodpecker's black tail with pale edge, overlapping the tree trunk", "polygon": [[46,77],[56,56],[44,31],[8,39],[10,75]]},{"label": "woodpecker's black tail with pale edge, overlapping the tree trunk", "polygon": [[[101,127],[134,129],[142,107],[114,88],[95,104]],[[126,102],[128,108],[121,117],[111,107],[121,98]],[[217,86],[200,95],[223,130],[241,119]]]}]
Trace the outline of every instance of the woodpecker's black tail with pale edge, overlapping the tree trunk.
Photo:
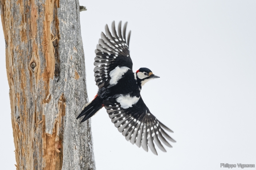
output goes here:
[{"label": "woodpecker's black tail with pale edge, overlapping the tree trunk", "polygon": [[95,115],[97,112],[99,112],[102,107],[103,102],[99,99],[98,95],[96,95],[91,102],[84,105],[82,112],[77,116],[76,119],[84,116],[83,120],[81,121],[84,122],[93,115]]}]

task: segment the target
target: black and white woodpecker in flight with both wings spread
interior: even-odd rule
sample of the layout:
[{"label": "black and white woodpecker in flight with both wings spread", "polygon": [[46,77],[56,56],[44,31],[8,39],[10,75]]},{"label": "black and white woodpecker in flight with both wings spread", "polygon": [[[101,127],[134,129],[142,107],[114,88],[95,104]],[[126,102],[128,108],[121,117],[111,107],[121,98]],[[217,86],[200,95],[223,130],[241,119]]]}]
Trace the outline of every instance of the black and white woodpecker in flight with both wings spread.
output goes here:
[{"label": "black and white woodpecker in flight with both wings spread", "polygon": [[157,155],[155,144],[166,152],[160,140],[168,147],[172,146],[165,138],[176,142],[164,130],[173,131],[151,114],[140,96],[142,86],[159,77],[148,68],[140,68],[135,73],[132,71],[129,51],[131,31],[126,39],[127,22],[123,35],[121,25],[120,21],[118,35],[115,21],[112,22],[112,34],[108,25],[105,26],[106,34],[101,32],[94,59],[94,77],[99,91],[92,101],[84,105],[77,119],[84,116],[81,121],[84,122],[105,107],[111,121],[127,141],[141,146],[146,152],[149,147]]}]

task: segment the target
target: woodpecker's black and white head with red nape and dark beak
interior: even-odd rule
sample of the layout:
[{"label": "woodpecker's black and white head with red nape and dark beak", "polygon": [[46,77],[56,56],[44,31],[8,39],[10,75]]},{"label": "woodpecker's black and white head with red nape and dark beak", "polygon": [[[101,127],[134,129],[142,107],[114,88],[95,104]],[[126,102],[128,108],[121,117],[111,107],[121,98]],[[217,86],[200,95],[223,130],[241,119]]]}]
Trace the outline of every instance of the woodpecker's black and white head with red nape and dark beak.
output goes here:
[{"label": "woodpecker's black and white head with red nape and dark beak", "polygon": [[137,78],[137,83],[141,88],[141,86],[144,85],[149,80],[152,80],[154,78],[160,78],[160,77],[154,75],[152,71],[149,70],[148,68],[140,68],[139,70],[136,71],[136,78]]}]

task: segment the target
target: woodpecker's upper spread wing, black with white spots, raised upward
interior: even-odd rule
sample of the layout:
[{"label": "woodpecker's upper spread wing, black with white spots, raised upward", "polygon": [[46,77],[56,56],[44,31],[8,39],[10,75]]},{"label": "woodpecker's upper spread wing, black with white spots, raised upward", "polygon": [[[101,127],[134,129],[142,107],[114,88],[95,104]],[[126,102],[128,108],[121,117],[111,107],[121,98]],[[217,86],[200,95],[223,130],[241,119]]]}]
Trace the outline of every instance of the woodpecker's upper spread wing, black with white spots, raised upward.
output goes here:
[{"label": "woodpecker's upper spread wing, black with white spots, raised upward", "polygon": [[[131,31],[128,34],[126,43],[127,22],[124,24],[123,36],[121,25],[122,22],[120,21],[118,35],[116,33],[115,21],[112,22],[113,36],[108,29],[108,25],[105,26],[106,35],[101,32],[101,39],[99,44],[97,44],[97,49],[95,50],[96,57],[94,58],[94,77],[99,88],[108,87],[108,85],[113,84],[113,81],[110,81],[111,77],[118,73],[112,73],[111,75],[111,71],[115,70],[116,67],[123,67],[123,70],[132,70],[132,59],[129,51]],[[120,72],[120,70],[118,69],[117,72]]]}]

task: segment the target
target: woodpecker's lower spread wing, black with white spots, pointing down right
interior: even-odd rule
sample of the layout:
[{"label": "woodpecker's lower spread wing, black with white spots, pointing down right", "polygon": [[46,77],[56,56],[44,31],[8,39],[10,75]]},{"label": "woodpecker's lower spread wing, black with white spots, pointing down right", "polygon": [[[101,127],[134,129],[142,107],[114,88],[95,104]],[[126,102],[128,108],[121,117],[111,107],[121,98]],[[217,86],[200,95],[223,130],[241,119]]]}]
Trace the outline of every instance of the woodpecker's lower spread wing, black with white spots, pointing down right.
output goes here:
[{"label": "woodpecker's lower spread wing, black with white spots, pointing down right", "polygon": [[112,122],[115,124],[118,131],[122,132],[127,141],[129,140],[132,144],[136,144],[138,147],[142,146],[147,152],[149,146],[150,150],[156,155],[155,144],[163,152],[166,152],[160,140],[168,147],[172,146],[165,138],[172,142],[176,142],[164,131],[164,129],[169,132],[173,131],[158,121],[156,117],[150,113],[141,97],[136,104],[133,104],[132,107],[126,109],[121,107],[122,102],[125,103],[125,101],[118,100],[120,101],[120,104],[116,99],[117,98],[110,98],[103,101],[103,104],[107,109]]}]

